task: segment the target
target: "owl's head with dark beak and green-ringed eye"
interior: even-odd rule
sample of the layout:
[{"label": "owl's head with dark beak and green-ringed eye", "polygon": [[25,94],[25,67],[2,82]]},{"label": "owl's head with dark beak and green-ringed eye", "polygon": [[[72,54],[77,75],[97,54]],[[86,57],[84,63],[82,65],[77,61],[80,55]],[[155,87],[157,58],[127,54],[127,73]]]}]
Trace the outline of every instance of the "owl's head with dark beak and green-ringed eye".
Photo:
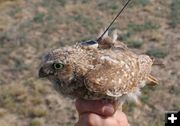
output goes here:
[{"label": "owl's head with dark beak and green-ringed eye", "polygon": [[65,83],[73,78],[73,66],[65,61],[64,55],[49,52],[42,57],[39,77]]}]

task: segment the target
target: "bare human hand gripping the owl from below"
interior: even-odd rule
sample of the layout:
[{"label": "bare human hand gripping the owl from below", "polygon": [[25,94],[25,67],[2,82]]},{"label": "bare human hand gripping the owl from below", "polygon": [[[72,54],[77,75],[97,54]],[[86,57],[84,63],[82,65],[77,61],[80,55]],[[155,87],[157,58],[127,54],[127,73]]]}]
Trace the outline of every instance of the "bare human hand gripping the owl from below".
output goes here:
[{"label": "bare human hand gripping the owl from below", "polygon": [[75,126],[129,126],[126,115],[109,103],[78,99],[76,109],[79,120]]}]

